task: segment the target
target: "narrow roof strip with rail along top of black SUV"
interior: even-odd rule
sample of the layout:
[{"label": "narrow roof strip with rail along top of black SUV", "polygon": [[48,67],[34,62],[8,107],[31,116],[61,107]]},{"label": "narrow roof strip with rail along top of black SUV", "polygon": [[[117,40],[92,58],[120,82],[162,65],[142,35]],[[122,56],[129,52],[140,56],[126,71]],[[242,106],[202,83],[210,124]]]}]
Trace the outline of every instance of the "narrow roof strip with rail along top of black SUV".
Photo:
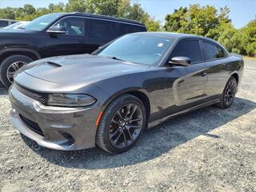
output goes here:
[{"label": "narrow roof strip with rail along top of black SUV", "polygon": [[132,24],[136,24],[139,26],[145,26],[142,22],[134,21],[131,19],[126,18],[114,18],[107,15],[101,15],[101,14],[88,14],[88,13],[81,13],[81,12],[74,12],[74,13],[66,13],[66,14],[72,14],[72,15],[78,15],[78,16],[84,16],[84,17],[90,17],[90,18],[102,18],[102,19],[109,19],[117,22],[128,22]]}]

